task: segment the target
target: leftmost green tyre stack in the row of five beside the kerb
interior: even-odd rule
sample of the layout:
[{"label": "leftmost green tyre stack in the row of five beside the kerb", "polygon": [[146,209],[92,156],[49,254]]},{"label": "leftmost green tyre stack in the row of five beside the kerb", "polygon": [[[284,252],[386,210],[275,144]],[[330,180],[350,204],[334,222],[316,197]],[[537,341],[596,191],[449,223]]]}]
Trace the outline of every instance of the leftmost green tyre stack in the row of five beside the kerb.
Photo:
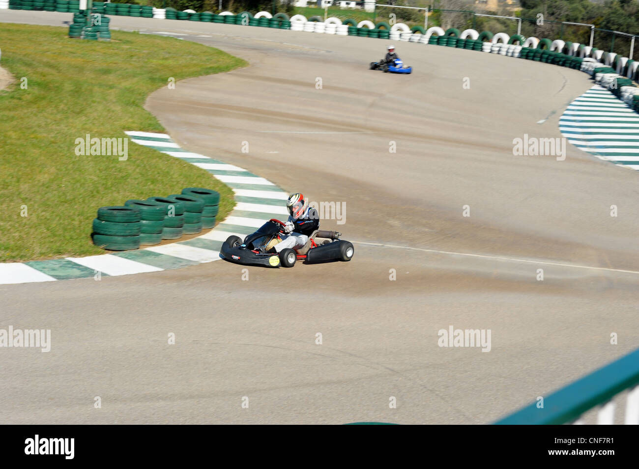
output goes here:
[{"label": "leftmost green tyre stack in the row of five beside the kerb", "polygon": [[142,214],[134,207],[100,207],[93,220],[93,244],[109,251],[140,247]]}]

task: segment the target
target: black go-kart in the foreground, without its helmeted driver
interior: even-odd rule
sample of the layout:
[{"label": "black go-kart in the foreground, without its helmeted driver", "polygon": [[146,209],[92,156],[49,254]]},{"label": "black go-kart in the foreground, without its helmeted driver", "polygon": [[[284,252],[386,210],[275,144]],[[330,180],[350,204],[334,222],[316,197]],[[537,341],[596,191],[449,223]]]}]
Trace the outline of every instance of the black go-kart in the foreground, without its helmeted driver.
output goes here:
[{"label": "black go-kart in the foreground, without its helmeted driver", "polygon": [[[315,230],[309,236],[309,241],[302,248],[282,249],[275,252],[275,244],[282,240],[286,225],[282,221],[272,218],[248,235],[242,241],[239,236],[229,236],[222,243],[220,254],[226,260],[236,264],[264,265],[265,267],[293,267],[296,260],[305,260],[307,264],[325,262],[328,260],[348,261],[353,257],[353,244],[343,239],[337,231]],[[324,241],[318,244],[317,238]]]}]

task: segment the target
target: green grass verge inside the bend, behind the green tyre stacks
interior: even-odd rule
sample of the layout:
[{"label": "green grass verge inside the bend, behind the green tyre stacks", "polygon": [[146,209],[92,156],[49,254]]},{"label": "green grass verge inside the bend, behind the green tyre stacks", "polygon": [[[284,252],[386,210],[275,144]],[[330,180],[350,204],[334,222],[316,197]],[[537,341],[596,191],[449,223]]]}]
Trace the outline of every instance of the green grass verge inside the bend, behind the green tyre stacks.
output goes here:
[{"label": "green grass verge inside the bend, behind the green tyre stacks", "polygon": [[91,243],[91,220],[98,207],[130,198],[199,186],[220,192],[219,220],[231,211],[232,191],[200,168],[132,142],[126,161],[76,156],[75,139],[162,132],[142,108],[148,94],[169,77],[220,73],[245,61],[121,31],[112,31],[111,42],[82,41],[61,27],[0,23],[0,38],[3,67],[16,78],[0,91],[0,262],[104,253]]}]

